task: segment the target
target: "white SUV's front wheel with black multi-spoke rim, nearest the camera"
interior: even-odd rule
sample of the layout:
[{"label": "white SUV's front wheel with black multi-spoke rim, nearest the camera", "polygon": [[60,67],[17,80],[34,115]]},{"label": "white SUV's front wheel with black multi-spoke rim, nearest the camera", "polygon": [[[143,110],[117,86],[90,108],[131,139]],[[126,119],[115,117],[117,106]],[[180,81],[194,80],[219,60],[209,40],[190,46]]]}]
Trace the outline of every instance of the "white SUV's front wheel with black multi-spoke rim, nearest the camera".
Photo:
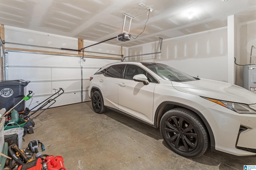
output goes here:
[{"label": "white SUV's front wheel with black multi-spoke rim, nearest the camera", "polygon": [[165,143],[184,157],[199,157],[208,148],[208,134],[198,116],[185,108],[174,108],[162,116],[160,132]]}]

